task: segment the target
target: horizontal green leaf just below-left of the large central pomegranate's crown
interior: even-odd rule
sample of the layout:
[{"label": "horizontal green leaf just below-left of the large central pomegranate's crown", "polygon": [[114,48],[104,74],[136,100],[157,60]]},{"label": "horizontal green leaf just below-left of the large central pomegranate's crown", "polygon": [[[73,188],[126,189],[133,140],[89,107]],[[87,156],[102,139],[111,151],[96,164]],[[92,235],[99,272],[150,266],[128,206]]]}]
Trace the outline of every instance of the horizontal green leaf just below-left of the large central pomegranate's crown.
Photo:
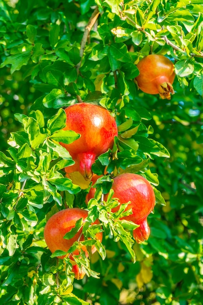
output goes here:
[{"label": "horizontal green leaf just below-left of the large central pomegranate's crown", "polygon": [[69,178],[51,178],[47,179],[51,184],[55,185],[56,189],[59,191],[68,191],[70,194],[78,193],[81,188],[73,184],[72,180]]}]

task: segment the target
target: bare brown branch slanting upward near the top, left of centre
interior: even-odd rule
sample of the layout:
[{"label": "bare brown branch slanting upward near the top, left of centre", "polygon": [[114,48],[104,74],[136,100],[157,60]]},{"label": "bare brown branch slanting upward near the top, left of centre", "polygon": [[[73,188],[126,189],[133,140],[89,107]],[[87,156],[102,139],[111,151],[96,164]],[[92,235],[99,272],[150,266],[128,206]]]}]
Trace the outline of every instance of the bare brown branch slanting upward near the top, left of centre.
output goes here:
[{"label": "bare brown branch slanting upward near the top, left of centre", "polygon": [[88,36],[89,36],[90,31],[92,30],[92,26],[96,22],[96,19],[98,18],[99,14],[100,14],[99,13],[99,9],[98,9],[98,7],[96,7],[95,10],[92,13],[92,16],[91,16],[88,24],[85,27],[85,31],[84,31],[83,38],[82,38],[81,45],[80,45],[80,57],[81,57],[81,60],[77,64],[77,72],[78,72],[78,70],[79,70],[79,68],[81,66],[81,63],[82,63],[82,57],[83,57],[83,54],[84,54],[84,51],[85,51],[85,45],[87,43]]}]

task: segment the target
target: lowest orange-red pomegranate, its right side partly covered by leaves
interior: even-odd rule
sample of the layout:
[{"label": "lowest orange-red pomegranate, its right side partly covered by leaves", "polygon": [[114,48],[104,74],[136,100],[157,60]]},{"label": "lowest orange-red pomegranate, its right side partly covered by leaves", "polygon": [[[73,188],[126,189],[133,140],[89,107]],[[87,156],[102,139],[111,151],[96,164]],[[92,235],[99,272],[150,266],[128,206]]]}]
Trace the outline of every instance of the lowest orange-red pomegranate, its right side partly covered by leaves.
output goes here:
[{"label": "lowest orange-red pomegranate, its right side partly covered by leaves", "polygon": [[[44,239],[51,250],[63,250],[68,252],[69,248],[74,244],[75,241],[83,241],[84,235],[82,234],[82,228],[71,239],[64,239],[64,235],[69,232],[72,228],[75,227],[75,223],[78,219],[83,218],[83,222],[88,216],[88,211],[72,208],[58,211],[53,216],[49,218],[45,227],[44,227]],[[96,220],[92,224],[99,224],[99,220]],[[96,238],[101,242],[102,241],[102,232],[96,233]],[[88,257],[88,251],[85,246],[82,246],[83,251],[85,251],[86,256]],[[92,253],[96,251],[95,246],[92,246]],[[70,253],[69,257],[74,260],[73,255],[78,255],[79,251],[76,249],[73,253]],[[58,256],[58,258],[63,259],[65,255]],[[85,272],[80,270],[77,265],[73,265],[73,272],[75,278],[82,279],[85,275]]]}]

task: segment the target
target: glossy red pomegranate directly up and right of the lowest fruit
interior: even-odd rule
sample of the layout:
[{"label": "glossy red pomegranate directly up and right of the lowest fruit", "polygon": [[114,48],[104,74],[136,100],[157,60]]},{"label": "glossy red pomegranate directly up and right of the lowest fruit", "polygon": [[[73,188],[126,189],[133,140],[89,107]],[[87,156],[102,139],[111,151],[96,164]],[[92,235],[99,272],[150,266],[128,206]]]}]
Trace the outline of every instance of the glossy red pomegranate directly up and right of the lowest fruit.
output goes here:
[{"label": "glossy red pomegranate directly up and right of the lowest fruit", "polygon": [[[148,180],[138,174],[123,173],[114,178],[112,190],[114,191],[113,198],[118,198],[120,204],[130,201],[127,210],[132,209],[132,214],[122,219],[140,225],[133,230],[133,237],[136,242],[140,243],[148,240],[150,228],[147,216],[155,205],[154,191]],[[105,200],[107,196],[104,196]],[[118,209],[119,206],[112,211],[116,212]]]}]

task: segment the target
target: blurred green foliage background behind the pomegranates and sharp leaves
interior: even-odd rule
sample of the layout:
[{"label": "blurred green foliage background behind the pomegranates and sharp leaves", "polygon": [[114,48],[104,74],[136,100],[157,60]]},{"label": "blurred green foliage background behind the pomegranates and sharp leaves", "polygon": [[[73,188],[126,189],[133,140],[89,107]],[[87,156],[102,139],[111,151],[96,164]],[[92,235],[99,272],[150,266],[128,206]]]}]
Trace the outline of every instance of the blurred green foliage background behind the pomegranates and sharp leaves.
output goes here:
[{"label": "blurred green foliage background behind the pomegranates and sharp leaves", "polygon": [[[157,7],[156,10],[152,6],[153,2],[156,2],[154,4]],[[1,65],[0,151],[7,153],[7,140],[10,133],[23,129],[14,114],[28,115],[31,110],[37,108],[41,110],[43,97],[53,89],[54,85],[43,76],[43,68],[55,63],[59,56],[56,56],[54,47],[51,45],[51,29],[54,25],[60,25],[58,37],[60,37],[61,45],[64,43],[66,48],[65,42],[69,41],[69,45],[78,48],[85,25],[96,4],[103,8],[104,13],[98,21],[99,33],[96,23],[92,30],[90,44],[86,46],[84,56],[86,66],[84,64],[81,67],[83,78],[80,79],[81,83],[84,80],[85,85],[80,86],[79,81],[79,84],[77,83],[81,96],[85,97],[94,91],[95,88],[93,87],[93,90],[91,88],[96,73],[106,75],[105,82],[101,81],[103,93],[107,94],[112,89],[113,76],[108,72],[110,68],[106,59],[103,60],[103,55],[99,58],[98,65],[97,61],[91,62],[88,59],[93,55],[91,52],[95,45],[91,43],[95,41],[98,45],[102,42],[110,44],[112,41],[125,43],[134,60],[138,58],[138,55],[146,55],[152,49],[154,53],[167,54],[175,60],[174,62],[185,60],[187,67],[192,62],[194,70],[192,73],[190,71],[188,74],[176,76],[175,95],[171,96],[169,101],[161,100],[156,95],[142,93],[133,81],[128,81],[128,78],[125,79],[126,82],[119,80],[119,89],[112,90],[111,97],[112,95],[117,97],[119,90],[124,94],[125,86],[129,86],[129,94],[125,92],[125,95],[129,95],[130,110],[135,105],[135,107],[144,107],[151,114],[151,119],[144,121],[148,131],[151,131],[150,138],[160,142],[170,153],[170,158],[154,155],[149,164],[151,172],[158,174],[157,189],[162,193],[166,205],[156,205],[154,214],[149,215],[151,235],[148,242],[134,245],[135,264],[132,263],[129,253],[122,244],[106,240],[104,241],[107,249],[106,260],[102,261],[96,254],[92,257],[92,268],[100,273],[100,279],[90,277],[74,282],[73,292],[81,299],[95,305],[201,305],[203,300],[203,96],[201,94],[203,56],[189,55],[196,51],[194,43],[200,40],[199,37],[195,37],[190,44],[187,44],[189,49],[187,54],[175,52],[170,45],[164,42],[157,43],[148,37],[143,37],[138,45],[134,44],[129,36],[114,37],[111,29],[115,27],[131,29],[132,27],[132,24],[119,17],[120,1],[116,0],[112,2],[106,0],[104,3],[99,0],[0,1],[0,63],[5,62],[10,55],[18,54],[16,50],[19,45],[27,43],[26,26],[28,24],[35,26],[36,41],[40,44],[35,57],[29,57],[29,60],[24,61],[22,65],[19,64],[19,67],[15,62]],[[163,21],[162,26],[168,31],[169,25],[177,29],[181,27],[180,30],[185,33],[185,36],[189,30],[194,31],[193,34],[196,33],[196,29],[192,26],[198,18],[203,20],[201,1],[124,1],[124,5],[128,6],[128,9],[136,7],[136,14],[140,16],[141,13],[146,14],[154,25],[161,22],[159,20],[161,13],[163,17],[167,14],[170,16],[168,12],[173,10],[176,13],[179,12],[179,15],[177,13],[176,17],[173,16],[172,21],[170,19]],[[150,5],[149,12],[148,5]],[[149,15],[150,11],[153,12],[152,15]],[[190,16],[194,17],[191,22]],[[141,17],[137,18],[138,23],[139,21],[142,22]],[[154,32],[157,31],[158,25],[157,28],[152,28]],[[167,34],[168,39],[178,45],[178,38],[173,34],[171,30],[171,33]],[[132,51],[131,46],[133,46]],[[39,60],[40,56],[43,60]],[[117,62],[116,54],[113,56]],[[113,64],[116,65],[116,63]],[[12,68],[13,72],[11,72]],[[128,69],[130,66],[127,65]],[[188,69],[191,67],[189,66]],[[89,71],[92,72],[91,75]],[[198,85],[194,76],[200,76]],[[74,72],[72,77],[71,81],[74,81]],[[55,114],[55,109],[43,108],[43,114],[49,117]],[[44,261],[46,259],[48,260],[48,256],[44,257]],[[52,260],[50,266],[51,264]],[[0,275],[4,278],[4,269],[1,269]],[[32,278],[30,274],[29,278]],[[32,286],[32,281],[28,281],[27,285]],[[4,286],[3,289],[6,287]],[[8,292],[11,290],[12,283],[8,286]],[[10,300],[5,304],[23,303]],[[24,304],[38,303],[26,301]],[[43,304],[48,303],[44,301]]]}]

